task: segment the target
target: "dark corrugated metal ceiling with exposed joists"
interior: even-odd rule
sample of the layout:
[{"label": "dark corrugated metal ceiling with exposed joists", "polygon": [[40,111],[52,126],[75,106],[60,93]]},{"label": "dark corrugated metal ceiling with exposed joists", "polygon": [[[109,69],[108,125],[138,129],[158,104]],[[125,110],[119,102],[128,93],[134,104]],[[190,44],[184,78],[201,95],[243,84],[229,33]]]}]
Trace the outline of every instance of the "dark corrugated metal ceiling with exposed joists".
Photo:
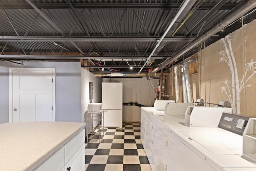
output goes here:
[{"label": "dark corrugated metal ceiling with exposed joists", "polygon": [[[0,35],[5,38],[14,37],[14,40],[8,41],[7,45],[7,41],[1,40],[3,37],[0,38],[2,55],[18,52],[20,55],[24,55],[23,52],[29,55],[33,51],[31,54],[45,57],[46,54],[53,55],[52,51],[54,51],[54,55],[76,56],[83,53],[83,56],[88,57],[92,54],[113,58],[128,56],[131,60],[132,56],[146,59],[154,49],[156,40],[166,31],[183,2],[183,0],[70,0],[70,3],[69,0],[30,1],[43,15],[38,14],[27,0],[0,0]],[[159,61],[171,57],[182,49],[196,37],[199,31],[202,33],[210,28],[242,0],[226,0],[223,8],[212,13],[214,17],[206,18],[205,23],[201,21],[191,34],[186,36],[188,31],[220,1],[197,0],[197,2],[202,4],[199,3],[200,7],[177,30],[173,37],[175,41],[172,41],[171,33],[167,34],[169,43],[158,54]],[[191,10],[187,11],[187,14],[189,12]],[[79,17],[80,20],[77,21]],[[16,33],[18,36],[25,34],[26,36],[18,41],[19,37],[15,37]],[[33,41],[29,41],[28,38],[31,37]],[[48,40],[54,37],[63,40]],[[74,38],[75,41],[67,40],[68,37]],[[41,38],[44,41],[38,42]],[[76,41],[78,38],[79,41]],[[83,38],[90,38],[92,41],[82,41]],[[112,41],[113,38],[117,40]],[[126,38],[132,39],[126,40]],[[189,39],[184,40],[187,38]],[[100,41],[101,39],[104,41]],[[5,45],[6,49],[4,49]],[[121,61],[122,57],[119,57],[119,60]],[[159,65],[159,61],[156,61],[156,64]]]}]

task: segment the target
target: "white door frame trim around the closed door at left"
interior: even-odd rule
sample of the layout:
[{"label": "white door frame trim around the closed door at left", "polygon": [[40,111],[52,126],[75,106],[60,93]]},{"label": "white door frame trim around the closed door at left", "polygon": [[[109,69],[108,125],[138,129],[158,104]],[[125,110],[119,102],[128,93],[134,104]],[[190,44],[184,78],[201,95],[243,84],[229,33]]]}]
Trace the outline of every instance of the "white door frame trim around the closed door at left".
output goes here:
[{"label": "white door frame trim around the closed door at left", "polygon": [[12,94],[12,77],[13,71],[52,71],[52,120],[56,121],[56,69],[55,68],[9,68],[9,122],[12,122],[12,102],[13,102],[13,94]]}]

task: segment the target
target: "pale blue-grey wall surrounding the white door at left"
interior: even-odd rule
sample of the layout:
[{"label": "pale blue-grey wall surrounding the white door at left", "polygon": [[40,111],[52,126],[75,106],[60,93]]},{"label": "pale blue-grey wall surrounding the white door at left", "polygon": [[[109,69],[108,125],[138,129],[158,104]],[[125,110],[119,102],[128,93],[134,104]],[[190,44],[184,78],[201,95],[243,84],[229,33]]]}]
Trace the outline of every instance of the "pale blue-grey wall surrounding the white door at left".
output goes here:
[{"label": "pale blue-grey wall surrounding the white door at left", "polygon": [[56,68],[56,121],[81,122],[80,62],[0,62],[0,124],[9,122],[9,67]]}]

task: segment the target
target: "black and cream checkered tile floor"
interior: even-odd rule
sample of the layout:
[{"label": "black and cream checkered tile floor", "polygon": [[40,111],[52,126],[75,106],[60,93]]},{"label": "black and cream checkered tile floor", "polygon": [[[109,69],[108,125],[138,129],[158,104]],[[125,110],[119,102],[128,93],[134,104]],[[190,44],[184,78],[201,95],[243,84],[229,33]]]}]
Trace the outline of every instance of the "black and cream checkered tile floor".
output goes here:
[{"label": "black and cream checkered tile floor", "polygon": [[85,148],[86,171],[151,171],[140,141],[140,123],[124,122],[123,128],[99,130],[89,137]]}]

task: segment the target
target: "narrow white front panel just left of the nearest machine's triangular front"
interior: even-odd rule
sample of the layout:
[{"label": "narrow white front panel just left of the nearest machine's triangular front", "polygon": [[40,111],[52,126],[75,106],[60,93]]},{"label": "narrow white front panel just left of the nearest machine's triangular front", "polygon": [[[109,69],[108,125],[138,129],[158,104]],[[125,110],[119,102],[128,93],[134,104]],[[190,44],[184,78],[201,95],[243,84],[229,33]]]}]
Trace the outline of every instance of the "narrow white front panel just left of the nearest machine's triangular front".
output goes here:
[{"label": "narrow white front panel just left of the nearest machine's triangular front", "polygon": [[167,136],[156,125],[153,125],[153,149],[164,170],[167,167],[167,141]]}]

